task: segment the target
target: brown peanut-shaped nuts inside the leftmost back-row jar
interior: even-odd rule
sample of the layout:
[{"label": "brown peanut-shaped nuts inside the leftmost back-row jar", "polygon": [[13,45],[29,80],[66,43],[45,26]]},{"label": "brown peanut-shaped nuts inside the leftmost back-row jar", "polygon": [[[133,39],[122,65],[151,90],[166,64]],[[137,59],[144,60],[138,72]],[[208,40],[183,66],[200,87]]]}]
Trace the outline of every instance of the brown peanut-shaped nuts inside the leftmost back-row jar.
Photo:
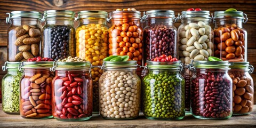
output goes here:
[{"label": "brown peanut-shaped nuts inside the leftmost back-row jar", "polygon": [[[9,53],[9,61],[24,61],[39,56],[41,29],[35,26],[23,25],[13,29],[15,31],[15,54]],[[10,46],[9,46],[10,47]],[[10,51],[13,52],[13,51]]]}]

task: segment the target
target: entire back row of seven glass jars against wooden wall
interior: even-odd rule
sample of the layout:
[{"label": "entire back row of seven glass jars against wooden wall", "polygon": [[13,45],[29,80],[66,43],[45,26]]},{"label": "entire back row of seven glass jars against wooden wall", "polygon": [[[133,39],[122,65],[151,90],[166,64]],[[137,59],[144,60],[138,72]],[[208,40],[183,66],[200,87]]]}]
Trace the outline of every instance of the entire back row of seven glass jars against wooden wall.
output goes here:
[{"label": "entire back row of seven glass jars against wooden wall", "polygon": [[[129,55],[142,66],[162,54],[179,57],[186,65],[213,55],[247,61],[247,32],[242,27],[247,16],[243,12],[214,12],[214,30],[209,11],[183,11],[179,18],[171,10],[147,11],[142,18],[139,11],[113,11],[109,17],[105,11],[81,11],[77,18],[73,11],[45,11],[43,18],[39,12],[11,12],[6,18],[11,24],[8,61],[77,56],[99,66],[108,55]],[[177,32],[173,23],[178,19]],[[45,21],[42,30],[41,20]],[[76,30],[75,20],[79,21]],[[147,26],[142,29],[140,23],[145,20]]]}]

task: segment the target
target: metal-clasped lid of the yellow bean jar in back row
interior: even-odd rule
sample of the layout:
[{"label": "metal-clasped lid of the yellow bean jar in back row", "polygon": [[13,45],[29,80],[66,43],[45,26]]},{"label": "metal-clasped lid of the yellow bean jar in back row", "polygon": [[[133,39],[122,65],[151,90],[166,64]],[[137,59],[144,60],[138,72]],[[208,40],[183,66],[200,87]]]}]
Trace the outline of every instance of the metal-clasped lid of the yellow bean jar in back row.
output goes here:
[{"label": "metal-clasped lid of the yellow bean jar in back row", "polygon": [[77,14],[77,19],[80,18],[108,18],[108,12],[98,11],[98,10],[89,10],[89,11],[80,11]]}]

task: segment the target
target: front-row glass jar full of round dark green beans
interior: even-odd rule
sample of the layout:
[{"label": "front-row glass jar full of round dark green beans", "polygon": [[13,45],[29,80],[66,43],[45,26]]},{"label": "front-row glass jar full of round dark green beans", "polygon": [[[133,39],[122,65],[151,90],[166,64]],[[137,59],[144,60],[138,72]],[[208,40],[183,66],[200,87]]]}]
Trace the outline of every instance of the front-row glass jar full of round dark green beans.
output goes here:
[{"label": "front-row glass jar full of round dark green beans", "polygon": [[182,119],[185,116],[185,80],[181,61],[147,61],[143,78],[143,114],[148,119]]}]

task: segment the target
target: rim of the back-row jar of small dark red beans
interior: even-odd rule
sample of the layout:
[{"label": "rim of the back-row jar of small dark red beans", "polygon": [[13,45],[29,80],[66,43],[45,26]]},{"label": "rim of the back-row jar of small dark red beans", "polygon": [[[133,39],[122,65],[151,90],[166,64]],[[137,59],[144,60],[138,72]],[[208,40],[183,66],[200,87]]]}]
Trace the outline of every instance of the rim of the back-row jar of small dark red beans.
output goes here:
[{"label": "rim of the back-row jar of small dark red beans", "polygon": [[146,11],[147,18],[175,18],[172,10],[150,10]]}]

